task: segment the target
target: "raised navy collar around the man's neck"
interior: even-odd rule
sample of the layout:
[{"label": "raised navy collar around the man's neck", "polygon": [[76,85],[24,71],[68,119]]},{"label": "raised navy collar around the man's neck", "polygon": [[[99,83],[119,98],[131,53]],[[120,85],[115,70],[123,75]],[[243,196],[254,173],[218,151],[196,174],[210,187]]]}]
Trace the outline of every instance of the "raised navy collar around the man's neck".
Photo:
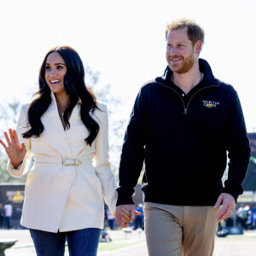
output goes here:
[{"label": "raised navy collar around the man's neck", "polygon": [[[203,87],[210,87],[212,85],[219,86],[219,81],[212,74],[212,68],[209,63],[204,59],[199,59],[199,69],[202,73],[204,73],[204,78],[202,80]],[[171,86],[172,81],[172,70],[169,66],[166,67],[165,73],[163,76],[155,79],[156,82],[160,84],[164,84],[166,86]]]}]

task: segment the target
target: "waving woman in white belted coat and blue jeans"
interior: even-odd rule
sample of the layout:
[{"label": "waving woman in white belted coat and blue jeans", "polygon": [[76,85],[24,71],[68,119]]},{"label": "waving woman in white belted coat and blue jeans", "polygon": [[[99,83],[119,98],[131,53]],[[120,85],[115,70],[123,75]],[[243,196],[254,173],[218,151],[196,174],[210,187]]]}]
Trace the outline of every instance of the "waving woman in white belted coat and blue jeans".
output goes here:
[{"label": "waving woman in white belted coat and blue jeans", "polygon": [[[68,46],[50,49],[37,97],[20,112],[17,131],[0,143],[8,172],[26,173],[20,224],[30,229],[38,255],[96,255],[104,199],[115,212],[116,182],[108,161],[106,105],[84,84],[84,67]],[[104,197],[104,199],[103,199]]]}]

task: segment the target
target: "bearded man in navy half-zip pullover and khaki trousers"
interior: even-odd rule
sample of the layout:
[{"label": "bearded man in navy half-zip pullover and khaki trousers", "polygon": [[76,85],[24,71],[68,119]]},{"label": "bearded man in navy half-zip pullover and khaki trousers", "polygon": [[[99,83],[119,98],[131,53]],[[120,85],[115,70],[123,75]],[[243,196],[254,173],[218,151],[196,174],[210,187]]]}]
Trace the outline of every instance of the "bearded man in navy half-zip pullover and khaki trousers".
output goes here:
[{"label": "bearded man in navy half-zip pullover and khaki trousers", "polygon": [[204,31],[192,20],[166,27],[168,67],[139,91],[125,132],[116,221],[125,226],[124,213],[135,216],[131,195],[145,160],[145,232],[153,256],[212,255],[218,222],[243,191],[250,148],[241,104],[199,59],[203,43]]}]

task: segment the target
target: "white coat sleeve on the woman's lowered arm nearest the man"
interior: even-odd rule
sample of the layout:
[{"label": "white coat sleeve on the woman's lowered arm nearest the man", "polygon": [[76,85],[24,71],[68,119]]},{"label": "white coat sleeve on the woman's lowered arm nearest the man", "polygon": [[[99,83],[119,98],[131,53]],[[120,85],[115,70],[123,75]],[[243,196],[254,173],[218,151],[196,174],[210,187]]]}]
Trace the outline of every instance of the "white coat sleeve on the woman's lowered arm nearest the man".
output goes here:
[{"label": "white coat sleeve on the woman's lowered arm nearest the man", "polygon": [[96,137],[96,152],[94,155],[96,175],[102,183],[102,191],[105,202],[112,214],[115,212],[117,200],[117,183],[109,162],[108,146],[108,109],[101,104],[102,111],[99,111],[98,124],[100,130]]}]

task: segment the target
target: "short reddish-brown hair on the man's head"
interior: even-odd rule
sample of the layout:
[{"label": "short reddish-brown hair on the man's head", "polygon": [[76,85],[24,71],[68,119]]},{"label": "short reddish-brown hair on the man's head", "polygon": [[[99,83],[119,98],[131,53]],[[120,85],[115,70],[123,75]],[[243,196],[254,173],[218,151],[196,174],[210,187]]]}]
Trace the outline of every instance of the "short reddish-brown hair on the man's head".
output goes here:
[{"label": "short reddish-brown hair on the man's head", "polygon": [[173,20],[171,23],[167,24],[166,38],[170,30],[182,29],[183,27],[187,27],[188,38],[192,42],[193,46],[198,40],[201,40],[201,43],[204,44],[204,40],[205,40],[204,29],[199,24],[195,23],[194,20],[189,20],[185,18]]}]

